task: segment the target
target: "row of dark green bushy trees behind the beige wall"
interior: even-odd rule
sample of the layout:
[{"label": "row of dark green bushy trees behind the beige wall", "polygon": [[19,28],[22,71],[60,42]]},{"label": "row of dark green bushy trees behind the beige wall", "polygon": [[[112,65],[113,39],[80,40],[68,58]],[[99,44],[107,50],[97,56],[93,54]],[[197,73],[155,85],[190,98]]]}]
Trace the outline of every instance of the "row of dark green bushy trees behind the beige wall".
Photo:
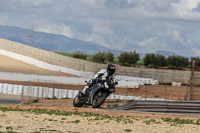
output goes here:
[{"label": "row of dark green bushy trees behind the beige wall", "polygon": [[[84,59],[88,58],[87,54],[76,51],[72,53],[72,57]],[[115,59],[116,58],[116,59]],[[115,61],[117,60],[117,61]],[[139,54],[134,52],[122,52],[118,57],[114,57],[111,52],[98,52],[91,56],[91,61],[97,63],[117,63],[125,66],[135,66],[142,65],[147,67],[167,67],[167,68],[191,68],[192,61],[195,60],[196,66],[200,66],[199,57],[191,57],[189,60],[187,57],[183,56],[169,56],[165,57],[163,55],[147,53],[143,59],[139,58]]]}]

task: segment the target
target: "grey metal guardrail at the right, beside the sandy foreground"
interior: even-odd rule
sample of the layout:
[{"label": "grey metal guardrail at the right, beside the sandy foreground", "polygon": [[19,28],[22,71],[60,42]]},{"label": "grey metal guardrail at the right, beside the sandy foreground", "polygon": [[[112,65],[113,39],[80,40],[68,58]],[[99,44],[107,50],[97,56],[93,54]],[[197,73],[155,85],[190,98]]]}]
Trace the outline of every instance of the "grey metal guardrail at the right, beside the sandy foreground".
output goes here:
[{"label": "grey metal guardrail at the right, beside the sandy foreground", "polygon": [[200,113],[200,101],[133,101],[108,109],[142,112]]}]

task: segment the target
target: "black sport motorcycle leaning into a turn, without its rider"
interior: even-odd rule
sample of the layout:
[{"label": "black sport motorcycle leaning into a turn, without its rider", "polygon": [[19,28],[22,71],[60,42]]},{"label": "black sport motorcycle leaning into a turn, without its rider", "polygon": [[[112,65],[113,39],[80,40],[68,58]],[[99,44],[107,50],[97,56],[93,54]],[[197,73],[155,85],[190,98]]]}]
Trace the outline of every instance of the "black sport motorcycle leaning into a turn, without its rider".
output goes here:
[{"label": "black sport motorcycle leaning into a turn, without its rider", "polygon": [[110,76],[107,80],[93,79],[91,81],[86,81],[89,88],[85,91],[85,94],[80,91],[74,98],[74,107],[82,107],[85,104],[92,105],[93,108],[99,108],[106,98],[115,91],[115,85],[118,84],[113,76]]}]

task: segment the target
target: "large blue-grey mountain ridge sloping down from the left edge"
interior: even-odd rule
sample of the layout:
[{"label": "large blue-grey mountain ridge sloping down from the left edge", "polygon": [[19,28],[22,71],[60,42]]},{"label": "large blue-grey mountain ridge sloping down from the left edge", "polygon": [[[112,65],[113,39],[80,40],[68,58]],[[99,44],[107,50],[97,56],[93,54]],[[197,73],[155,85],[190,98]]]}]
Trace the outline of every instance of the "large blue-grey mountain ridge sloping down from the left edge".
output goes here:
[{"label": "large blue-grey mountain ridge sloping down from the left edge", "polygon": [[0,26],[0,38],[53,52],[73,53],[81,51],[86,54],[95,54],[99,51],[110,51],[115,56],[120,55],[122,52],[100,46],[96,43],[51,33],[34,32],[33,39],[31,39],[31,30],[14,26]]}]

